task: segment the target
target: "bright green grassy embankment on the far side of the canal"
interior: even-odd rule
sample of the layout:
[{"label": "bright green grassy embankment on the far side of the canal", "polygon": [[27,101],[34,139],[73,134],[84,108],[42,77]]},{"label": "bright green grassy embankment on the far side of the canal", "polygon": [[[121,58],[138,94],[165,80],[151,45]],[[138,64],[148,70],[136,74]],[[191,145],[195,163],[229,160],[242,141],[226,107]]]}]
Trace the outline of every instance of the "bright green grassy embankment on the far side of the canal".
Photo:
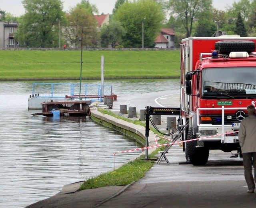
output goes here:
[{"label": "bright green grassy embankment on the far side of the canal", "polygon": [[[179,51],[83,51],[82,79],[178,78]],[[76,80],[80,51],[0,51],[0,80]]]}]

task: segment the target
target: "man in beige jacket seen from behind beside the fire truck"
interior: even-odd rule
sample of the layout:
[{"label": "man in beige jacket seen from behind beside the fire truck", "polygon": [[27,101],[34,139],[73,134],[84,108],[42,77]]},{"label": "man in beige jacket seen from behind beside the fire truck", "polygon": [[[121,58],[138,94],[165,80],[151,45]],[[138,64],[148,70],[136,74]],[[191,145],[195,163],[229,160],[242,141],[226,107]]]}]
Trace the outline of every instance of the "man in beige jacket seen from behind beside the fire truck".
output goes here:
[{"label": "man in beige jacket seen from behind beside the fire truck", "polygon": [[[242,149],[244,163],[244,178],[248,193],[254,193],[256,182],[256,115],[254,105],[247,106],[248,117],[243,119],[239,127],[239,143]],[[252,175],[254,167],[254,178]]]}]

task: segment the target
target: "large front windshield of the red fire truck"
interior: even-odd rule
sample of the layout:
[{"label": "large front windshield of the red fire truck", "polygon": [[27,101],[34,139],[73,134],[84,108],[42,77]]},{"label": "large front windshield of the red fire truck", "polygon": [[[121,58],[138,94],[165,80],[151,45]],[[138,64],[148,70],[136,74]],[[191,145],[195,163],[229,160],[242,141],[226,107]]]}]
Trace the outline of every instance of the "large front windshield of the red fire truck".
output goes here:
[{"label": "large front windshield of the red fire truck", "polygon": [[202,99],[256,98],[256,67],[202,69]]}]

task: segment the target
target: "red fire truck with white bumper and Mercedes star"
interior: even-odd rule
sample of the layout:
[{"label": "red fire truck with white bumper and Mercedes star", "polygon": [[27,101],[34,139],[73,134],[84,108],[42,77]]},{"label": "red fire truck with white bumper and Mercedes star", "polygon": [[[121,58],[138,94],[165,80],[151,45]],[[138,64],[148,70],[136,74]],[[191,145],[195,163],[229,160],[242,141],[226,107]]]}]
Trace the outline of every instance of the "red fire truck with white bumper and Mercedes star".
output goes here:
[{"label": "red fire truck with white bumper and Mercedes star", "polygon": [[182,140],[187,160],[204,165],[210,150],[237,151],[240,121],[256,103],[256,37],[189,37],[180,44]]}]

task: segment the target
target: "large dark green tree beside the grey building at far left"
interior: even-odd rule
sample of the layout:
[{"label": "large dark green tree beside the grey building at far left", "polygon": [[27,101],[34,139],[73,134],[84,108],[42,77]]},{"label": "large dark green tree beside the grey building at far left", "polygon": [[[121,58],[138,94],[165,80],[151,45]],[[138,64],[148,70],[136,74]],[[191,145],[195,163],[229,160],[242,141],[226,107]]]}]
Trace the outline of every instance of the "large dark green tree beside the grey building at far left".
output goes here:
[{"label": "large dark green tree beside the grey building at far left", "polygon": [[17,38],[30,47],[58,47],[58,21],[64,15],[61,0],[23,0]]}]

